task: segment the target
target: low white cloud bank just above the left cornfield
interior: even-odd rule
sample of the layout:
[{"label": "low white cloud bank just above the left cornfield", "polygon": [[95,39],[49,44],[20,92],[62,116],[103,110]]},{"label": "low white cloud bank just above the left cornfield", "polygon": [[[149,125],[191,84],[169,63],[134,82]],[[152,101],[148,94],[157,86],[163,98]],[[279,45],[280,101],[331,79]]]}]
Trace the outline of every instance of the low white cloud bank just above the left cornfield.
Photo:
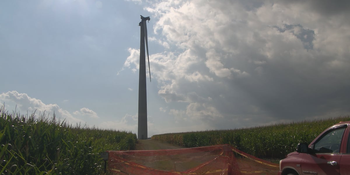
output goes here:
[{"label": "low white cloud bank just above the left cornfield", "polygon": [[[57,104],[45,104],[41,100],[29,97],[26,93],[19,93],[17,91],[8,91],[0,94],[1,103],[9,103],[16,105],[19,112],[27,113],[50,113],[55,112],[57,118],[66,119],[69,123],[82,122],[82,120],[73,117],[68,111],[61,109]],[[9,106],[14,109],[14,106]]]}]

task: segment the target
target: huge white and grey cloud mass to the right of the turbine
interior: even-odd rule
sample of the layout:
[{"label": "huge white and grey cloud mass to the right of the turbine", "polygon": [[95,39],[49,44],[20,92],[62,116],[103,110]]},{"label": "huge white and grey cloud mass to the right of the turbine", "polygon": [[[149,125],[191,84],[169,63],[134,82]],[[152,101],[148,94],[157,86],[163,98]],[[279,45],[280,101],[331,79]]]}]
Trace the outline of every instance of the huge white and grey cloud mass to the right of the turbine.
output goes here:
[{"label": "huge white and grey cloud mass to the right of the turbine", "polygon": [[[350,113],[350,10],[342,3],[153,3],[145,8],[156,19],[152,41],[169,45],[150,55],[159,96],[185,106],[167,109],[176,120],[219,128]],[[137,69],[136,53],[125,67]]]}]

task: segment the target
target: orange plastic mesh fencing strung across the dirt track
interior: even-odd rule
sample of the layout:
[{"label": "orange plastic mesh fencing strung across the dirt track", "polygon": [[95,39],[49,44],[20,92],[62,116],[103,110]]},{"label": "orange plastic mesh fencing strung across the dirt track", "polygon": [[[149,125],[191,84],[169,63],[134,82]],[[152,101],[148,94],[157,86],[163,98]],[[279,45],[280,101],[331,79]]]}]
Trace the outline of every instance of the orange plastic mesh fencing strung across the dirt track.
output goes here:
[{"label": "orange plastic mesh fencing strung across the dirt track", "polygon": [[107,152],[108,174],[113,175],[276,175],[279,170],[278,164],[231,145]]}]

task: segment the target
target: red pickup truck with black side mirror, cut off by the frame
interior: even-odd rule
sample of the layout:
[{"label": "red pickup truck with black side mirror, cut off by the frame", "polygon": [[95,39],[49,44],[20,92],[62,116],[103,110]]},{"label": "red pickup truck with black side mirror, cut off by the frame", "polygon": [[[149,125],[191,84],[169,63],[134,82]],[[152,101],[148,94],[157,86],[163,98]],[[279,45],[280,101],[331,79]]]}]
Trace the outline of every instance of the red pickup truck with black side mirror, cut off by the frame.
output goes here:
[{"label": "red pickup truck with black side mirror, cut off by the frame", "polygon": [[280,160],[278,175],[350,175],[350,121],[335,124],[311,144],[298,144],[296,152]]}]

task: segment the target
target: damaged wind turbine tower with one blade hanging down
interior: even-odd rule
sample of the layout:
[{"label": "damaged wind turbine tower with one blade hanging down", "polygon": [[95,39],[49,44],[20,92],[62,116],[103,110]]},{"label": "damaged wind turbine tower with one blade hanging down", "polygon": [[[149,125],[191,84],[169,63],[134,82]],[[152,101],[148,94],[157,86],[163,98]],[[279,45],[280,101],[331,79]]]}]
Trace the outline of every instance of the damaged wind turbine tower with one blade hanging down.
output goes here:
[{"label": "damaged wind turbine tower with one blade hanging down", "polygon": [[151,69],[149,68],[148,43],[147,43],[147,26],[148,17],[141,16],[141,40],[140,40],[140,77],[139,77],[139,120],[138,120],[138,139],[147,139],[147,94],[146,94],[146,55],[145,41],[147,49],[149,80],[151,82]]}]

